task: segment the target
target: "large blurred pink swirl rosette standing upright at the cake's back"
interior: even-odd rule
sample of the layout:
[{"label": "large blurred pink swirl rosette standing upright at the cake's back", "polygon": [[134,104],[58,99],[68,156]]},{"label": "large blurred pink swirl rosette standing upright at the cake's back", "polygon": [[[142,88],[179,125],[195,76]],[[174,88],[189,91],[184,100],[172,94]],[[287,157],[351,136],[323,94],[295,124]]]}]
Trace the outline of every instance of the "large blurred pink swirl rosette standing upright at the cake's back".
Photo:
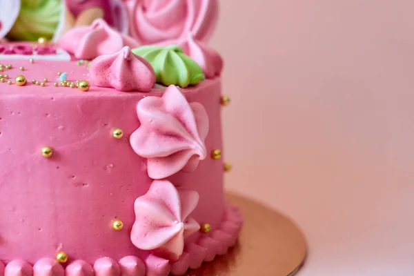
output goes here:
[{"label": "large blurred pink swirl rosette standing upright at the cake's back", "polygon": [[126,1],[130,32],[142,44],[179,39],[193,33],[206,41],[215,28],[217,0]]}]

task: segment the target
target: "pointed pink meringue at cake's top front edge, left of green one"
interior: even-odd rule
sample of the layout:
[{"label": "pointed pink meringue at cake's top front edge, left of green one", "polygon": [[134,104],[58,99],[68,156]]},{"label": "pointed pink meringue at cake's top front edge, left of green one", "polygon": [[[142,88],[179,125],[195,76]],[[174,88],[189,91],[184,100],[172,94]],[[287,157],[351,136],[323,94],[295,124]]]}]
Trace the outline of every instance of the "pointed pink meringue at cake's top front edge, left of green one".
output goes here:
[{"label": "pointed pink meringue at cake's top front edge, left of green one", "polygon": [[125,46],[119,52],[102,55],[90,65],[90,81],[95,86],[115,88],[119,91],[150,92],[156,77],[148,61]]}]

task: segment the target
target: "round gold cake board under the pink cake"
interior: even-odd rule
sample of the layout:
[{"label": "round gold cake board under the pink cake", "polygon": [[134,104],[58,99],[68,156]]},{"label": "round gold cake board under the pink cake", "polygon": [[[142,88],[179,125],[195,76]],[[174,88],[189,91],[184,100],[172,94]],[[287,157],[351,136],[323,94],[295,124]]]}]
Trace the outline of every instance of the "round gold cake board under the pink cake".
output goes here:
[{"label": "round gold cake board under the pink cake", "polygon": [[227,195],[244,226],[237,246],[187,276],[293,276],[304,264],[306,240],[287,217],[245,197]]}]

